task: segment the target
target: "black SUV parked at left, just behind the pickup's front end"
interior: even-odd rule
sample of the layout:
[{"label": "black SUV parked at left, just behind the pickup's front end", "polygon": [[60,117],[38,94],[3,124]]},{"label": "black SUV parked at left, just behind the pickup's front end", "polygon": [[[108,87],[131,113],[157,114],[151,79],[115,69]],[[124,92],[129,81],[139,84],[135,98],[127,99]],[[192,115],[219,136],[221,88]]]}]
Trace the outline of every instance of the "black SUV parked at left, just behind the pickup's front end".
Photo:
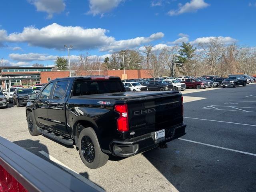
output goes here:
[{"label": "black SUV parked at left, just behind the pickup's front end", "polygon": [[30,88],[17,88],[13,93],[13,104],[16,104],[17,107],[20,107],[20,105],[26,105],[29,94],[35,94],[34,90]]}]

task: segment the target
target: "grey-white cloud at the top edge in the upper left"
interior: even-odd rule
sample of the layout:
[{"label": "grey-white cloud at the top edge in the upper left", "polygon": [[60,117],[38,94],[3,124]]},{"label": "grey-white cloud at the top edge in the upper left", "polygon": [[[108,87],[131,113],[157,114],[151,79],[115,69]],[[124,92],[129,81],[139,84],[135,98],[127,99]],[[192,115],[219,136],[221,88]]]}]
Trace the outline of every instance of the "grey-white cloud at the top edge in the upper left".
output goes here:
[{"label": "grey-white cloud at the top edge in the upper left", "polygon": [[47,18],[51,19],[54,13],[60,13],[65,9],[64,0],[28,0],[36,6],[36,10],[48,13]]}]

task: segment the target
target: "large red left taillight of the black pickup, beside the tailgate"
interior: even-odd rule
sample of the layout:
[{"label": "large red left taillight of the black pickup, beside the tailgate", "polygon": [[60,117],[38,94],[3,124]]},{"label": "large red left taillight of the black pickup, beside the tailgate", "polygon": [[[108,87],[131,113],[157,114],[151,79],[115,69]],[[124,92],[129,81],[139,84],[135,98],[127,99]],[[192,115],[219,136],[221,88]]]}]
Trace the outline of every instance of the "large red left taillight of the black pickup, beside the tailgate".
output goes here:
[{"label": "large red left taillight of the black pickup, beside the tailgate", "polygon": [[118,131],[128,131],[128,108],[127,105],[116,105],[115,111],[119,113],[119,118],[117,119],[116,126]]}]

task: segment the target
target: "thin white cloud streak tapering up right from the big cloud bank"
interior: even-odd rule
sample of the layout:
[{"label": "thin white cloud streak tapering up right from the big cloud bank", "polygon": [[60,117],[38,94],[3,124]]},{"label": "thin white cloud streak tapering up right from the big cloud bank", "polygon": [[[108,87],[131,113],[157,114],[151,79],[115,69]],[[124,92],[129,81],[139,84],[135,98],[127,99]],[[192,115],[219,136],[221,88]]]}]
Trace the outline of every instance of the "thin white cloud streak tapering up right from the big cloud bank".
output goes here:
[{"label": "thin white cloud streak tapering up right from the big cloud bank", "polygon": [[100,48],[100,51],[113,52],[115,50],[121,50],[121,49],[132,49],[140,46],[141,44],[146,44],[154,40],[158,40],[162,37],[164,37],[164,34],[162,32],[158,32],[150,35],[149,37],[137,37],[137,38],[128,39],[128,40],[114,41],[109,45],[106,45]]}]

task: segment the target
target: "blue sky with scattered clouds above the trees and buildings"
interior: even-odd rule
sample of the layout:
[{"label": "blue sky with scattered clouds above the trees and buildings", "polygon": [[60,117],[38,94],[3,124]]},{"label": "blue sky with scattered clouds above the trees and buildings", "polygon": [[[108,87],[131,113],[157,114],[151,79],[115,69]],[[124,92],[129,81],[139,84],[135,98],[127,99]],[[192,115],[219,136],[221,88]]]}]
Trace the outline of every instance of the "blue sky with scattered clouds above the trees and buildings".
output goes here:
[{"label": "blue sky with scattered clouds above the trees and buildings", "polygon": [[8,66],[54,64],[121,49],[154,50],[220,37],[255,46],[256,0],[2,0],[0,58]]}]

